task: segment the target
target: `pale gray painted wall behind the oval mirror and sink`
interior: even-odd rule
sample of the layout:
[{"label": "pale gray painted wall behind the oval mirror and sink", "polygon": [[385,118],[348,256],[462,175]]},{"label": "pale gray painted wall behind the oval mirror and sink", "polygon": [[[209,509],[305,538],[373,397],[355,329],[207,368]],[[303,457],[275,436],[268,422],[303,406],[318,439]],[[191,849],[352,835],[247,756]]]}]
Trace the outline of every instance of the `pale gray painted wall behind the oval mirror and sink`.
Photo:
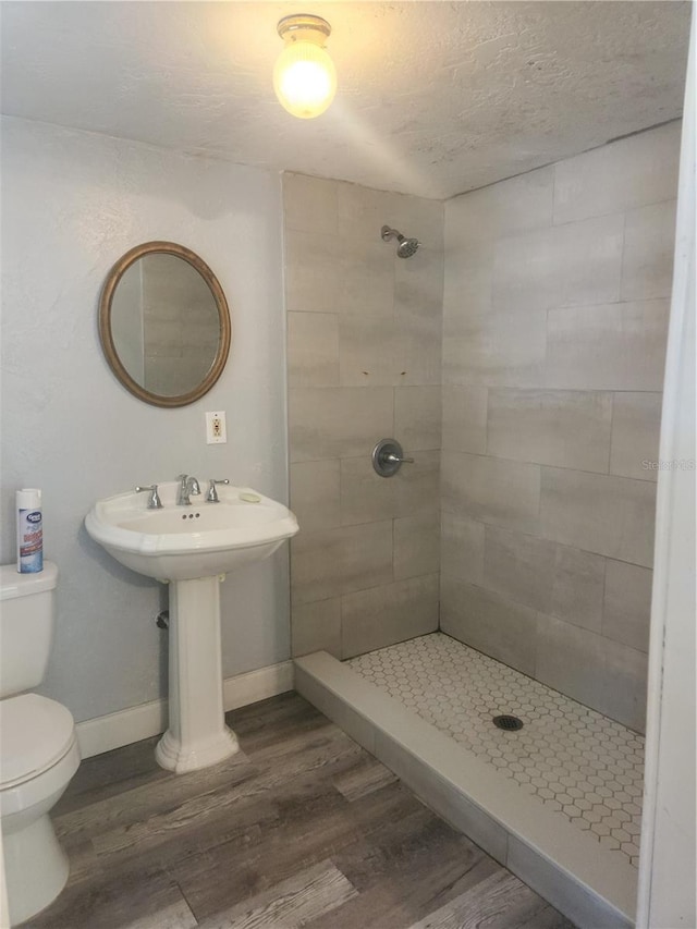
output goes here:
[{"label": "pale gray painted wall behind the oval mirror and sink", "polygon": [[[264,171],[40,123],[2,122],[1,561],[19,487],[44,490],[45,555],[60,567],[42,693],[77,720],[166,693],[164,588],[87,536],[98,498],[134,484],[229,477],[286,500],[281,187]],[[231,307],[233,344],[203,400],[160,410],[114,379],[97,331],[113,262],[149,240],[197,252]],[[206,445],[204,412],[228,414]],[[289,657],[288,553],[223,585],[223,672]]]}]

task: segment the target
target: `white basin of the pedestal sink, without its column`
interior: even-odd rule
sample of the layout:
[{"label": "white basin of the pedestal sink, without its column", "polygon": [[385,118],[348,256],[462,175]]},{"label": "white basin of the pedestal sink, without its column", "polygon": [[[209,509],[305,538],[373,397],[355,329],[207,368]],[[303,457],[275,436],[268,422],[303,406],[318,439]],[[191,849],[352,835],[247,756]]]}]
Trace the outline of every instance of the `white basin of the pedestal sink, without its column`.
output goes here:
[{"label": "white basin of the pedestal sink, without its column", "polygon": [[159,485],[162,510],[148,510],[148,494],[133,490],[98,500],[87,531],[121,564],[158,580],[225,574],[267,558],[297,533],[286,506],[252,488],[218,485],[219,503],[201,493],[191,506],[176,505],[178,489],[175,480]]}]

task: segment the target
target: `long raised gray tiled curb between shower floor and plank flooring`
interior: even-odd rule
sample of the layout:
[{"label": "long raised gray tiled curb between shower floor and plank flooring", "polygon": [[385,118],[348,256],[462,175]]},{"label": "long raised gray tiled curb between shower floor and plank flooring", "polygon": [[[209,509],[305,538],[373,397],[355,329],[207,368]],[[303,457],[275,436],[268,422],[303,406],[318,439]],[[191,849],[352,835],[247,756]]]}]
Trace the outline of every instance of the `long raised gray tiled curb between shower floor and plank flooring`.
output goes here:
[{"label": "long raised gray tiled curb between shower floor and plank flooring", "polygon": [[326,651],[295,688],[580,929],[635,925],[637,871]]}]

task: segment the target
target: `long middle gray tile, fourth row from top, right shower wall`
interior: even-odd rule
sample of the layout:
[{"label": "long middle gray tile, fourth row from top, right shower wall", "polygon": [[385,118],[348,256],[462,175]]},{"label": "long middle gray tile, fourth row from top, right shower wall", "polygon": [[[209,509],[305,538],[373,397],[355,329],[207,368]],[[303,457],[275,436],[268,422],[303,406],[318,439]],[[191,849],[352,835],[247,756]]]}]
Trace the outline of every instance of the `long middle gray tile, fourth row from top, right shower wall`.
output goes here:
[{"label": "long middle gray tile, fourth row from top, right shower wall", "polygon": [[579,470],[608,470],[612,395],[490,390],[487,452]]}]

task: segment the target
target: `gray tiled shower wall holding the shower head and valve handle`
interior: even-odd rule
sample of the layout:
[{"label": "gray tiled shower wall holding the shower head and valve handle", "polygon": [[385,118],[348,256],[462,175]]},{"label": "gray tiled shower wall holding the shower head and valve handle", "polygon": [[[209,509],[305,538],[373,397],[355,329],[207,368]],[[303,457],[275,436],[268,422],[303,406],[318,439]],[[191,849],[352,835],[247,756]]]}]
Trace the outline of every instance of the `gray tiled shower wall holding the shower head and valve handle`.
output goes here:
[{"label": "gray tiled shower wall holding the shower head and valve handle", "polygon": [[[438,627],[443,206],[295,174],[283,200],[292,648],[347,658]],[[392,437],[415,463],[386,479]]]}]

